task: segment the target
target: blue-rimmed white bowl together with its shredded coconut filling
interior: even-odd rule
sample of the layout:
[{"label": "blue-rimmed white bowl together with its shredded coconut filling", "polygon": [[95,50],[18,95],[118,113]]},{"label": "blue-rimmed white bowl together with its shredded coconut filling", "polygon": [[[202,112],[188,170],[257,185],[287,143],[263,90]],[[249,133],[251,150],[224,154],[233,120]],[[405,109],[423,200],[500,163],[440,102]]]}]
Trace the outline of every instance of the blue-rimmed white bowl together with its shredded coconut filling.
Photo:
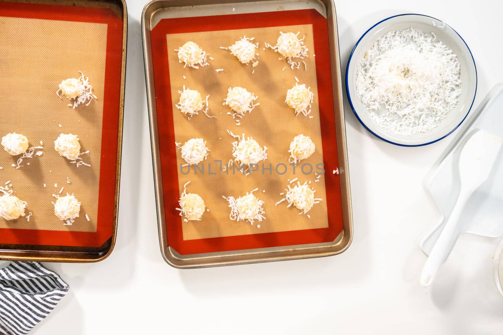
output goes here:
[{"label": "blue-rimmed white bowl together with its shredded coconut filling", "polygon": [[403,14],[371,27],[348,61],[346,90],[360,123],[400,146],[435,143],[466,119],[477,71],[465,41],[435,18]]}]

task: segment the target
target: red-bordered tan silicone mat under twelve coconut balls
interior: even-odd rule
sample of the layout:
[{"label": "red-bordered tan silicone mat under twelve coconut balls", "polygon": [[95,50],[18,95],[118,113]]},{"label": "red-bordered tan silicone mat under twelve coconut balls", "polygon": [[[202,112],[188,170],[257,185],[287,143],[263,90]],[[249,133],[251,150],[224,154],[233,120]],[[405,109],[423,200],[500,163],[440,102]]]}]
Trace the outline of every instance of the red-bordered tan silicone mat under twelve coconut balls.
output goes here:
[{"label": "red-bordered tan silicone mat under twelve coconut balls", "polygon": [[[305,36],[309,49],[305,67],[301,63],[299,69],[292,70],[278,53],[264,50],[264,42],[274,45],[280,31]],[[228,50],[220,48],[232,45],[242,36],[255,37],[253,42],[259,43],[256,67],[239,63]],[[314,10],[302,10],[164,19],[152,30],[151,37],[169,245],[180,254],[193,254],[333,241],[343,224],[339,177],[332,173],[338,168],[338,156],[331,77],[326,70],[330,61],[325,18]],[[214,58],[209,58],[210,65],[193,69],[178,62],[175,49],[187,41],[196,42]],[[284,103],[286,91],[297,80],[310,86],[314,93],[312,118],[295,117],[293,109]],[[199,90],[203,96],[209,94],[208,114],[216,118],[200,114],[187,120],[175,106],[183,85]],[[260,102],[241,119],[239,126],[227,115],[229,107],[222,105],[227,89],[234,86],[254,92],[258,96],[256,102]],[[225,165],[232,158],[235,139],[227,130],[251,136],[268,148],[268,159],[259,164],[258,171],[250,175],[233,173],[232,169],[218,171],[219,162],[215,160]],[[299,134],[311,137],[316,152],[302,161],[294,173],[288,163],[288,148]],[[180,168],[185,161],[175,142],[183,144],[191,138],[203,138],[210,149],[204,161],[205,173],[195,173],[194,169],[187,173],[187,168]],[[272,167],[272,171],[263,169],[262,163],[265,168]],[[321,164],[325,174],[318,177],[315,172],[321,172]],[[209,173],[210,165],[216,174]],[[299,215],[293,206],[287,208],[286,202],[275,205],[284,197],[280,193],[286,192],[289,181],[296,178],[301,183],[310,182],[316,196],[323,199],[309,211],[310,217]],[[200,221],[185,222],[176,210],[187,181],[191,181],[187,191],[201,195],[209,209]],[[258,190],[254,194],[265,202],[266,219],[254,225],[230,220],[228,202],[222,195],[237,198],[255,188]]]}]

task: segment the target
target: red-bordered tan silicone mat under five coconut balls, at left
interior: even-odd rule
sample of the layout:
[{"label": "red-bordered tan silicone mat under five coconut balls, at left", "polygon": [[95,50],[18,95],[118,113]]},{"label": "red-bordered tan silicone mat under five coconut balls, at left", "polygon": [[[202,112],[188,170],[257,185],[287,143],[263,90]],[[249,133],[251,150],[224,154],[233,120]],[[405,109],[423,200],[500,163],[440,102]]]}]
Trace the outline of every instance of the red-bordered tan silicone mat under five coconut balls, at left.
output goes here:
[{"label": "red-bordered tan silicone mat under five coconut balls, at left", "polygon": [[[0,218],[0,243],[101,246],[114,222],[121,18],[105,8],[0,2],[0,50],[0,135],[20,133],[30,147],[43,147],[35,150],[41,156],[25,158],[20,168],[19,156],[0,151],[0,184],[10,181],[31,213],[29,220]],[[78,71],[98,98],[73,109],[56,91]],[[55,152],[61,133],[78,135],[90,167]],[[51,203],[53,194],[66,193],[81,203],[72,225],[63,225]]]}]

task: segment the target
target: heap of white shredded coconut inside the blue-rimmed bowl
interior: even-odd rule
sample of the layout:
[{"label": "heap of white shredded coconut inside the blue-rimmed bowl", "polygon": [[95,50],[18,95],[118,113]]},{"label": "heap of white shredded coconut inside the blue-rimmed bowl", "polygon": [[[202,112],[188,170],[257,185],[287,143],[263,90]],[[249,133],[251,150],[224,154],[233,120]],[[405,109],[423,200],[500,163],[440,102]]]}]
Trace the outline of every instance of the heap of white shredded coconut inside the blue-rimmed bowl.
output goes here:
[{"label": "heap of white shredded coconut inside the blue-rimmed bowl", "polygon": [[405,136],[427,133],[458,104],[461,66],[434,33],[391,31],[365,52],[356,88],[380,128]]}]

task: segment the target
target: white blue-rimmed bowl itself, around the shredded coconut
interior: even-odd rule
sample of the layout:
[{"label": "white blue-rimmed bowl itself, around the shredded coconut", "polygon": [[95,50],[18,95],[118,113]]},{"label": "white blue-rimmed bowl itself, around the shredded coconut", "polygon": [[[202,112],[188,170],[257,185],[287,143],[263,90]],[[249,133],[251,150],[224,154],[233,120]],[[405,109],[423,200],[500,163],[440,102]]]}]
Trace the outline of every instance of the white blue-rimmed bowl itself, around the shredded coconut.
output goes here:
[{"label": "white blue-rimmed bowl itself, around the shredded coconut", "polygon": [[[361,102],[356,92],[356,70],[365,51],[374,42],[389,31],[416,28],[425,33],[433,32],[437,39],[450,48],[457,56],[461,65],[461,96],[456,107],[447,114],[434,130],[425,134],[412,136],[396,135],[379,127],[370,117],[370,113]],[[346,69],[346,91],[351,108],[360,123],[373,135],[381,140],[407,147],[417,147],[440,141],[455,131],[466,119],[475,99],[477,90],[477,69],[475,61],[461,36],[450,26],[440,20],[420,14],[401,14],[378,22],[363,34],[353,49]]]}]

